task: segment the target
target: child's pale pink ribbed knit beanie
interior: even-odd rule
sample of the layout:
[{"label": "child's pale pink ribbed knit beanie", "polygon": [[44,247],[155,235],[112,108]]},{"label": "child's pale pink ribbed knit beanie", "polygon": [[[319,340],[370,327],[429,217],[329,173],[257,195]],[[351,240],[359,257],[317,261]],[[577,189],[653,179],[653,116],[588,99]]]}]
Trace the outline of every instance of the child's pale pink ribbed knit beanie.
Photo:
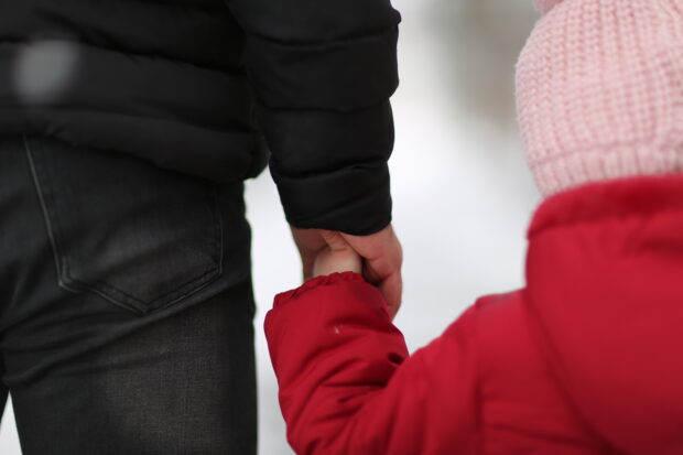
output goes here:
[{"label": "child's pale pink ribbed knit beanie", "polygon": [[683,1],[535,3],[517,97],[541,193],[683,172]]}]

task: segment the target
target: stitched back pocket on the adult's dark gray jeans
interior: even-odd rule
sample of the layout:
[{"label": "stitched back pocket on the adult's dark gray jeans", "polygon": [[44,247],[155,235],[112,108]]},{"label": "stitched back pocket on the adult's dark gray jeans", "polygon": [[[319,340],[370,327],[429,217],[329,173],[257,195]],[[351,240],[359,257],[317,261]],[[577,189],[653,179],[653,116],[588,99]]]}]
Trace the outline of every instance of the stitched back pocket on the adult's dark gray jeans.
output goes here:
[{"label": "stitched back pocket on the adult's dark gray jeans", "polygon": [[214,184],[123,154],[25,145],[62,288],[149,313],[220,277]]}]

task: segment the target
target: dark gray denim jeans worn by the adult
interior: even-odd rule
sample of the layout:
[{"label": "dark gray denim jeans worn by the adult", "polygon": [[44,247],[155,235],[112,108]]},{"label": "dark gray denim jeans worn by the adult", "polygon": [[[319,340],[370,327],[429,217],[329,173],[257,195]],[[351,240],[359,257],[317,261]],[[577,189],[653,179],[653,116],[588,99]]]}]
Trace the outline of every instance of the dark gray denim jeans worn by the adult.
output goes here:
[{"label": "dark gray denim jeans worn by the adult", "polygon": [[25,455],[256,453],[242,185],[0,139],[0,402]]}]

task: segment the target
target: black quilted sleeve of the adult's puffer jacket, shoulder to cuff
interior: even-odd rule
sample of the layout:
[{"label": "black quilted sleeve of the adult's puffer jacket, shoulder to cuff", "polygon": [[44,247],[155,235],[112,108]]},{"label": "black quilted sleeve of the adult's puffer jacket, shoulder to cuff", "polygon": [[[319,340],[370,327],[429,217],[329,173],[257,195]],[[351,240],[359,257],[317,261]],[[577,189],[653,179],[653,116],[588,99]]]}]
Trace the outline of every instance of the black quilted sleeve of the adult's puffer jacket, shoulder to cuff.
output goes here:
[{"label": "black quilted sleeve of the adult's puffer jacket, shoulder to cuff", "polygon": [[366,235],[391,220],[390,0],[226,0],[290,224]]}]

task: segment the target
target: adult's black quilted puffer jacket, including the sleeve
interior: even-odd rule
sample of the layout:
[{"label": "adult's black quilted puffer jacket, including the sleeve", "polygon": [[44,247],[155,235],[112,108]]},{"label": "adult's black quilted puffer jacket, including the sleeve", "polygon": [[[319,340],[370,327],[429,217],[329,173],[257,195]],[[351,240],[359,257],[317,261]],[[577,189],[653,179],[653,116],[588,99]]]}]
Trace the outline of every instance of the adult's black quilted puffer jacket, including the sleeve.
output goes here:
[{"label": "adult's black quilted puffer jacket, including the sleeve", "polygon": [[262,130],[291,224],[370,234],[399,21],[390,0],[0,0],[0,134],[227,182],[264,166]]}]

